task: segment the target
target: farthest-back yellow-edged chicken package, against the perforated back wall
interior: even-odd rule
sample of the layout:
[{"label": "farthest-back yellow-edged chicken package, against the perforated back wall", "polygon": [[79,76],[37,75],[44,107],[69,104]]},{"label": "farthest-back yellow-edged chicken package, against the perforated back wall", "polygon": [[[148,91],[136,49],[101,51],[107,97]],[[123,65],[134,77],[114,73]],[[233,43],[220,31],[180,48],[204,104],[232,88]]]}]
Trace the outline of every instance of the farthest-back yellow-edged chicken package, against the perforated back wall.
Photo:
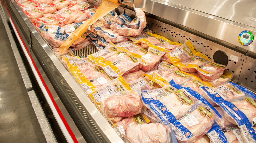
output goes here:
[{"label": "farthest-back yellow-edged chicken package, against the perforated back wall", "polygon": [[139,45],[141,45],[142,48],[145,48],[145,49],[148,49],[149,44],[157,46],[157,45],[172,43],[169,39],[157,34],[150,33],[149,31],[147,31],[146,34],[142,34],[136,38],[130,37],[130,39],[133,42],[138,43]]}]

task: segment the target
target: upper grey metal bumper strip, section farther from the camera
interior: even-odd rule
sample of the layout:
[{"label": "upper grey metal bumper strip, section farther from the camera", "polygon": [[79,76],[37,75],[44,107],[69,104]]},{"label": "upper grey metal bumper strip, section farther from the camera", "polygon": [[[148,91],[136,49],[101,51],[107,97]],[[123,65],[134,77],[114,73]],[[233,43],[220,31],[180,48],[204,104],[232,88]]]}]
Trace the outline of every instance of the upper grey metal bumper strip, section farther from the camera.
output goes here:
[{"label": "upper grey metal bumper strip, section farther from the camera", "polygon": [[[0,5],[1,5],[1,4],[0,4]],[[28,89],[32,88],[32,84],[31,84],[31,82],[30,82],[30,78],[29,78],[29,75],[28,75],[28,73],[27,73],[27,71],[26,71],[26,68],[25,68],[25,66],[24,66],[24,63],[23,63],[23,61],[22,61],[22,59],[21,59],[21,56],[20,56],[20,53],[19,53],[19,51],[18,51],[17,45],[16,45],[16,43],[15,43],[13,37],[12,37],[11,30],[10,30],[10,28],[9,28],[9,26],[8,26],[6,17],[5,17],[5,15],[4,15],[4,13],[3,13],[3,7],[2,7],[2,5],[1,5],[1,10],[0,10],[0,15],[1,15],[2,21],[3,21],[3,23],[4,23],[5,30],[6,30],[6,32],[7,32],[8,38],[9,38],[9,40],[10,40],[11,48],[12,48],[12,51],[13,51],[13,53],[14,53],[15,59],[16,59],[16,61],[17,61],[17,64],[18,64],[18,67],[19,67],[19,70],[20,70],[20,73],[21,73],[23,82],[24,82],[24,84],[25,84],[26,89],[28,90]]]}]

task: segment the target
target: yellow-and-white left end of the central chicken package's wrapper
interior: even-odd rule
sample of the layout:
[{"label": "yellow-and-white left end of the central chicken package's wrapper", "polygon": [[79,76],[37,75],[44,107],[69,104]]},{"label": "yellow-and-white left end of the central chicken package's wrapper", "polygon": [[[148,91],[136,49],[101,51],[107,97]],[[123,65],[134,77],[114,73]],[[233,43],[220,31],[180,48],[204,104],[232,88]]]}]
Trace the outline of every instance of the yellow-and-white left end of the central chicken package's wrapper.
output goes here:
[{"label": "yellow-and-white left end of the central chicken package's wrapper", "polygon": [[111,61],[105,60],[103,57],[97,57],[95,62],[98,66],[102,67],[109,76],[117,77],[123,74]]}]

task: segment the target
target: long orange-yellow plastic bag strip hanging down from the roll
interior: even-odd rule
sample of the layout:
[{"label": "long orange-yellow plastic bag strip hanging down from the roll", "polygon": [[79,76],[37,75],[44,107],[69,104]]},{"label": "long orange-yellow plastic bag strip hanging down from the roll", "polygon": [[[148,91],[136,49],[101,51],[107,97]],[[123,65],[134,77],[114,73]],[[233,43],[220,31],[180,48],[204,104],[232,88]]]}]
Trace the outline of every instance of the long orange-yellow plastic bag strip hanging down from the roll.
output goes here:
[{"label": "long orange-yellow plastic bag strip hanging down from the roll", "polygon": [[80,36],[82,36],[88,27],[95,23],[98,19],[102,16],[109,13],[111,10],[117,8],[120,5],[117,0],[102,0],[102,3],[98,7],[97,11],[95,12],[94,16],[83,23],[80,27],[78,27],[74,33],[70,35],[70,37],[59,47],[59,51],[61,54],[65,53],[67,49],[77,40]]}]

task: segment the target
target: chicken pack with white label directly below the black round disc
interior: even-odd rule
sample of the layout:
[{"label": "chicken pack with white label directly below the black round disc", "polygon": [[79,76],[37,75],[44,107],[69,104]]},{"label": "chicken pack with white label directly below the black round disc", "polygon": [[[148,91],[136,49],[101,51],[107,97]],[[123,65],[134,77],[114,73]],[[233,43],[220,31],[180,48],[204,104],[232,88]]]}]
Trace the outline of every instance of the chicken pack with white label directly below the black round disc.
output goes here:
[{"label": "chicken pack with white label directly below the black round disc", "polygon": [[203,80],[203,81],[214,81],[217,78],[219,78],[225,68],[219,65],[216,65],[214,63],[208,63],[202,66],[199,66],[200,70],[197,69],[198,71],[198,76]]}]

